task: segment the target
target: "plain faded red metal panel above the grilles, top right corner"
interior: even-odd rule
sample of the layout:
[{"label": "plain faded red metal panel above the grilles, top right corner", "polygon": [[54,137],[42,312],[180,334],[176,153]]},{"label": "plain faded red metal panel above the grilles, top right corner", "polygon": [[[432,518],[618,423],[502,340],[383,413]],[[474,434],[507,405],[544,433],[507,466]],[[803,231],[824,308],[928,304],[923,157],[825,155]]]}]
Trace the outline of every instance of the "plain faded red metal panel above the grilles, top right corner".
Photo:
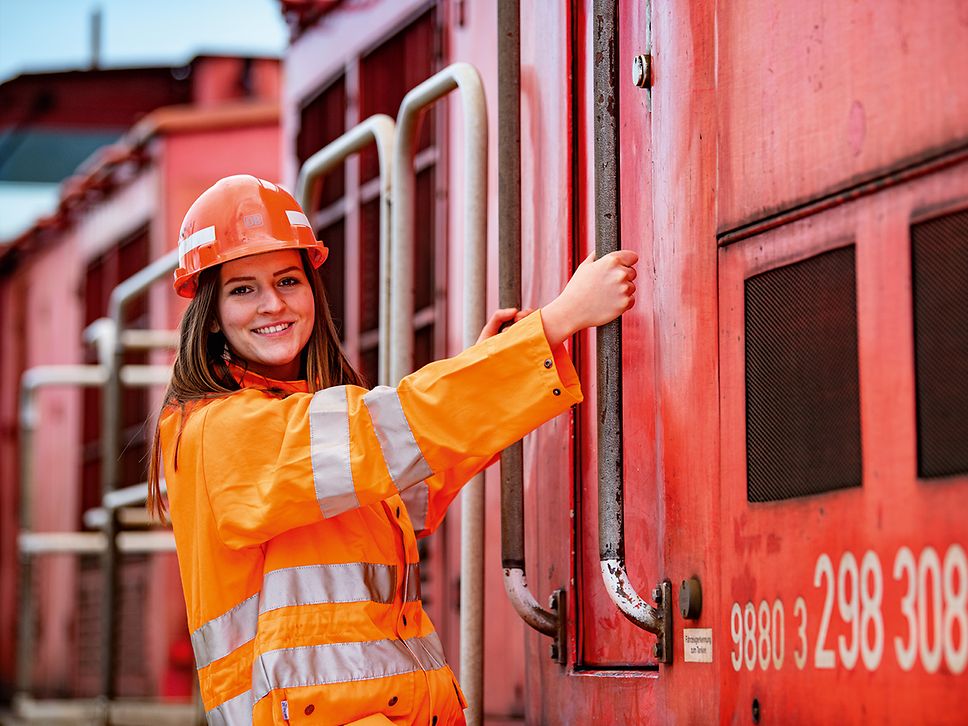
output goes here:
[{"label": "plain faded red metal panel above the grilles, top right corner", "polygon": [[963,0],[716,12],[721,229],[968,142]]}]

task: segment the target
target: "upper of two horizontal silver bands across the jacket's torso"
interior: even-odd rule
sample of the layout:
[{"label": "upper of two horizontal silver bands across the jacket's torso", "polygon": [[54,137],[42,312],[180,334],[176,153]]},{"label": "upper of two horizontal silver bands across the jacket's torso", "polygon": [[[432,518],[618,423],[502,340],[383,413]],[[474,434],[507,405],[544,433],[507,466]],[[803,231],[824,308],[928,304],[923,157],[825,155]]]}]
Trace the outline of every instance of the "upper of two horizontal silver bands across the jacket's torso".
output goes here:
[{"label": "upper of two horizontal silver bands across the jacket's torso", "polygon": [[306,565],[273,570],[262,585],[259,612],[294,605],[333,602],[393,602],[395,565],[351,562],[345,565]]}]

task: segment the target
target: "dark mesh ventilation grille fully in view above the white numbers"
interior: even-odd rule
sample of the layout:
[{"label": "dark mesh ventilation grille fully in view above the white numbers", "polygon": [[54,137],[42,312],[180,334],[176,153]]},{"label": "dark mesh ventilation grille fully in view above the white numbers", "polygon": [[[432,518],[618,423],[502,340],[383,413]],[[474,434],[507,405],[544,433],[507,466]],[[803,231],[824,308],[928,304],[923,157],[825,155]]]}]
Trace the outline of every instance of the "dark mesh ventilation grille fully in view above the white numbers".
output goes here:
[{"label": "dark mesh ventilation grille fully in view above the white numbers", "polygon": [[746,281],[747,499],[860,486],[854,248]]}]

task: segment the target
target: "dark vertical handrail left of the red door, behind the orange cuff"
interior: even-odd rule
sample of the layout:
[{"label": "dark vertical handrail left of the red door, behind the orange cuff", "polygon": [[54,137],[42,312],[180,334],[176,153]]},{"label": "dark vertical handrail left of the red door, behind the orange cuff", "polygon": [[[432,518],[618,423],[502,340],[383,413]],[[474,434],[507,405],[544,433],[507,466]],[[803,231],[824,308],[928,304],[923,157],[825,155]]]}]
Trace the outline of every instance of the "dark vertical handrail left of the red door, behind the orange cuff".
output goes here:
[{"label": "dark vertical handrail left of the red door, behind the orange cuff", "polygon": [[[503,307],[521,307],[521,42],[520,0],[498,5],[498,279]],[[557,637],[565,615],[545,610],[528,589],[524,548],[524,447],[501,452],[501,567],[515,612],[539,633]],[[564,643],[557,655],[564,662]]]}]

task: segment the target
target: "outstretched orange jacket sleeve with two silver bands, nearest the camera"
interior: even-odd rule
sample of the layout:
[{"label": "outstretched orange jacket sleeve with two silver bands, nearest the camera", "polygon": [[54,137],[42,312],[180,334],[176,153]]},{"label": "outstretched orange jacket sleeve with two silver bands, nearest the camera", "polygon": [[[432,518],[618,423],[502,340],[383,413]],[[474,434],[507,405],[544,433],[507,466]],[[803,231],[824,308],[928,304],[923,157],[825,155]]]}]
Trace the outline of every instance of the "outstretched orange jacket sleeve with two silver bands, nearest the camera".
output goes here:
[{"label": "outstretched orange jacket sleeve with two silver bands, nearest the camera", "polygon": [[396,388],[335,386],[281,400],[239,391],[199,412],[219,535],[229,547],[258,545],[418,484],[439,522],[496,452],[580,400],[540,312]]}]

